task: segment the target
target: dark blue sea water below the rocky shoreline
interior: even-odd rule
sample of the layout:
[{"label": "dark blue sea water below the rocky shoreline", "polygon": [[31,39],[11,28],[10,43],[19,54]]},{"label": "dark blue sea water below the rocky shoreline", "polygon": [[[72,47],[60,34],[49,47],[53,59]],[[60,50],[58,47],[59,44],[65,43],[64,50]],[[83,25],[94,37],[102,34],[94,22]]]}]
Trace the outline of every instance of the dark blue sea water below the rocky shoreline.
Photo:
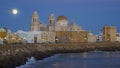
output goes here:
[{"label": "dark blue sea water below the rocky shoreline", "polygon": [[120,68],[120,52],[56,54],[18,68]]}]

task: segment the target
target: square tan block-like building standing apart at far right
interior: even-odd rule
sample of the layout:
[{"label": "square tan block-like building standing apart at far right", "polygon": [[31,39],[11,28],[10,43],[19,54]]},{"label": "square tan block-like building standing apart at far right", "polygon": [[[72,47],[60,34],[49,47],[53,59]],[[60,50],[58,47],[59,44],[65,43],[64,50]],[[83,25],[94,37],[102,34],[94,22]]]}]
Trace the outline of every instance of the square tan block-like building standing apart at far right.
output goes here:
[{"label": "square tan block-like building standing apart at far right", "polygon": [[116,41],[116,27],[114,26],[103,27],[103,41],[109,41],[109,42]]}]

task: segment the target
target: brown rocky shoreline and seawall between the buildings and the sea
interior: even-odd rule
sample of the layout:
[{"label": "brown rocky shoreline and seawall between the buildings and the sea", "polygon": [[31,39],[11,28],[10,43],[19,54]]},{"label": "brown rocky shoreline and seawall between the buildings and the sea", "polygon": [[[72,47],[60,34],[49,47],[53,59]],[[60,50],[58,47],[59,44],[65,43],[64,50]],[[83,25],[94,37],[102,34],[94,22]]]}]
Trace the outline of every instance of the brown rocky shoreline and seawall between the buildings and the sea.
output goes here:
[{"label": "brown rocky shoreline and seawall between the buildings and the sea", "polygon": [[120,42],[59,43],[59,44],[11,44],[0,46],[0,68],[15,68],[31,56],[37,60],[56,53],[76,53],[93,50],[120,51]]}]

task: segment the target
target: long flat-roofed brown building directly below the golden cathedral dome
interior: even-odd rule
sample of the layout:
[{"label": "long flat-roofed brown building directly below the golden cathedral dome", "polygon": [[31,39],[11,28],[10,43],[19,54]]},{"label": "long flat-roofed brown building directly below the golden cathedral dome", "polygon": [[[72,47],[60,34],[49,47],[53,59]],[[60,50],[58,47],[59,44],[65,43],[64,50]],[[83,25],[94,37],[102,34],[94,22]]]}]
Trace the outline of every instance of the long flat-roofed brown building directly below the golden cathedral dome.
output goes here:
[{"label": "long flat-roofed brown building directly below the golden cathedral dome", "polygon": [[56,42],[88,42],[88,31],[56,31]]}]

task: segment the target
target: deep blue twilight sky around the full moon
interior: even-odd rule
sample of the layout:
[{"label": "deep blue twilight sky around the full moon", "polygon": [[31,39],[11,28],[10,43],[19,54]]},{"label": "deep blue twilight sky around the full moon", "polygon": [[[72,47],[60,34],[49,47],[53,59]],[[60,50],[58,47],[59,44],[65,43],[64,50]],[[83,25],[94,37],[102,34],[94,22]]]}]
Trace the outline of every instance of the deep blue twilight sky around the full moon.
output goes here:
[{"label": "deep blue twilight sky around the full moon", "polygon": [[[18,9],[18,15],[11,10]],[[33,11],[48,23],[51,12],[64,15],[85,30],[98,34],[104,25],[116,26],[120,33],[120,0],[0,0],[0,27],[29,31]]]}]

